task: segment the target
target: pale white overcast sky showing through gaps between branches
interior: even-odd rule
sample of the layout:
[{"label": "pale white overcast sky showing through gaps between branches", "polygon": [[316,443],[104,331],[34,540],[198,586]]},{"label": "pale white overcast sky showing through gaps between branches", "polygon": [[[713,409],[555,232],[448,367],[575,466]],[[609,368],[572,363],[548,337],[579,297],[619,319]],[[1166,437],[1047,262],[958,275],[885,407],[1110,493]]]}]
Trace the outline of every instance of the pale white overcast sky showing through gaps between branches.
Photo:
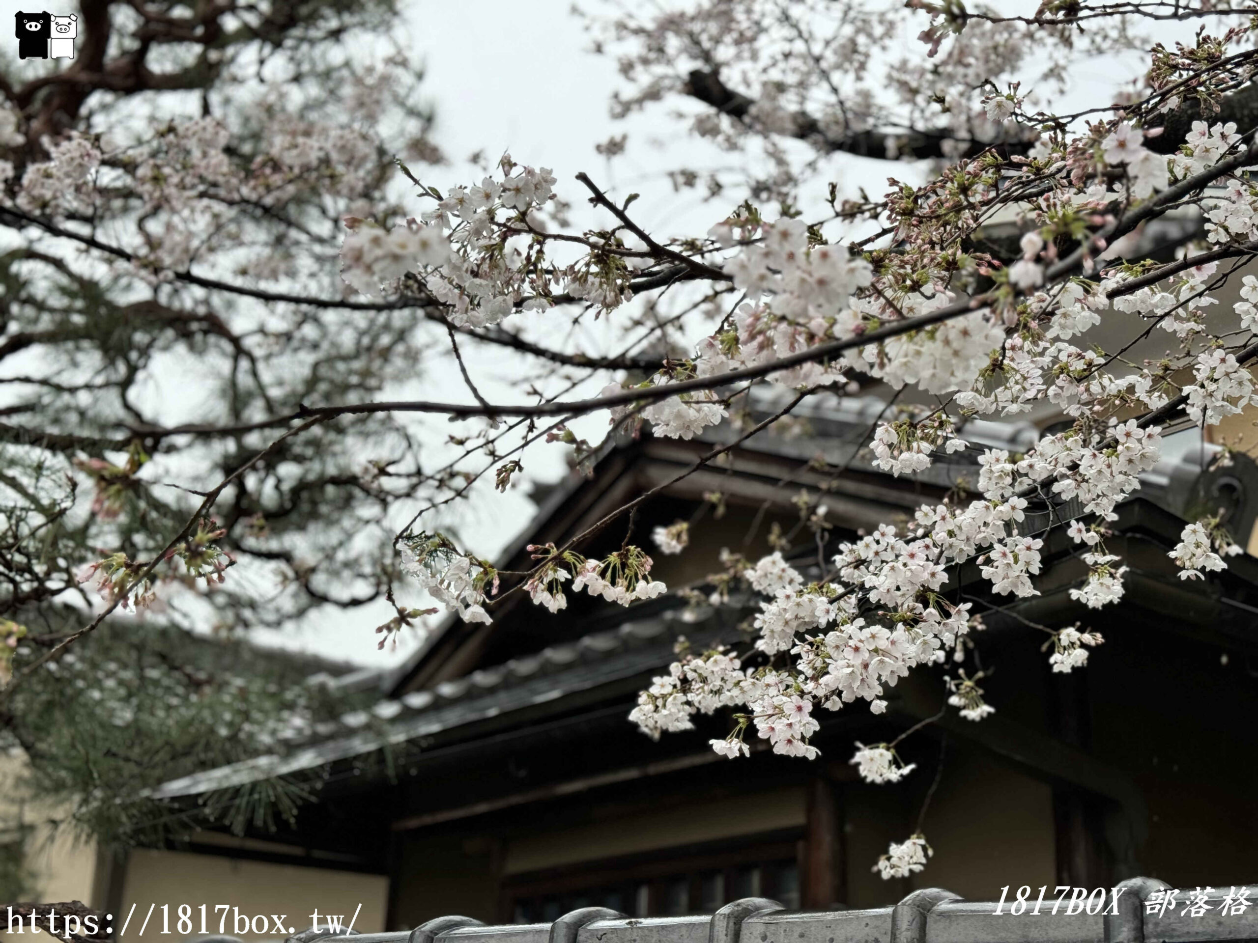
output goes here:
[{"label": "pale white overcast sky showing through gaps between branches", "polygon": [[[24,6],[54,14],[74,9],[72,3],[44,6],[30,0],[0,0],[0,15],[11,23],[13,14]],[[591,13],[613,11],[601,0],[586,0],[586,6]],[[697,141],[684,122],[669,117],[686,103],[659,106],[630,122],[613,121],[608,102],[621,82],[615,62],[587,52],[589,36],[570,9],[571,0],[411,0],[403,25],[413,39],[413,50],[426,63],[425,89],[437,112],[434,138],[452,161],[425,182],[443,189],[473,182],[479,176],[467,160],[473,152],[496,158],[509,151],[518,162],[551,167],[560,194],[574,204],[580,202],[584,190],[572,177],[585,171],[613,194],[640,192],[634,212],[648,229],[660,234],[706,231],[731,206],[704,204],[691,192],[676,194],[667,171],[678,166],[728,166],[731,155]],[[1133,60],[1115,59],[1084,65],[1076,73],[1072,98],[1102,84],[1113,88],[1133,68]],[[628,151],[609,166],[595,145],[625,132]],[[854,195],[862,186],[872,194],[882,192],[889,174],[913,179],[913,170],[905,165],[848,156],[833,161],[828,177],[839,181],[840,195]],[[494,382],[502,366],[483,357],[470,363],[491,400],[498,399],[494,392],[503,399],[518,396]],[[435,365],[425,377],[424,392],[435,389],[444,394],[431,399],[452,399],[452,390],[462,392],[458,375],[452,375],[448,365]],[[528,463],[530,474],[541,479],[557,478],[562,470],[559,450],[538,454]],[[462,532],[468,546],[483,556],[492,556],[509,541],[533,510],[518,490],[496,495],[491,504],[488,509],[470,509]],[[345,614],[328,615],[268,641],[362,664],[395,664],[414,641],[398,651],[377,653],[371,629],[387,615],[384,604],[348,619]]]}]

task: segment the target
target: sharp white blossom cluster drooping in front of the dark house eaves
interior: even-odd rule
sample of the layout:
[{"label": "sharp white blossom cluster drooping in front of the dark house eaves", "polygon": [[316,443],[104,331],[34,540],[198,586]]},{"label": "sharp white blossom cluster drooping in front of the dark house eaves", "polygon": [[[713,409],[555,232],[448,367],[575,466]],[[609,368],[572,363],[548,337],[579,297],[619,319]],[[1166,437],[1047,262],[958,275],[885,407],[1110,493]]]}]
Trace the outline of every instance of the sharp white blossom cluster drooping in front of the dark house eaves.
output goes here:
[{"label": "sharp white blossom cluster drooping in front of the dark house eaves", "polygon": [[[1072,295],[1071,301],[1082,307],[1088,292],[1076,290]],[[1058,350],[1066,347],[1057,343]],[[1079,386],[1078,377],[1067,371],[1058,370],[1057,376]],[[894,430],[896,424],[882,429]],[[941,439],[956,438],[951,422],[944,421],[927,426],[930,434],[937,435],[932,446]],[[883,433],[884,445],[889,439]],[[1047,492],[1055,500],[1077,499],[1094,517],[1098,523],[1091,526],[1078,519],[1072,523],[1071,536],[1084,546],[1089,567],[1083,587],[1073,592],[1089,606],[1112,602],[1121,595],[1125,571],[1099,546],[1103,522],[1138,487],[1140,473],[1157,461],[1159,445],[1157,427],[1111,420],[1087,434],[1074,429],[1045,436],[1023,456],[988,449],[979,459],[979,499],[923,505],[916,513],[915,529],[905,534],[884,524],[843,544],[833,560],[835,582],[806,583],[780,552],[742,565],[742,580],[767,597],[752,620],[757,631],[755,656],[782,666],[749,673],[742,659],[725,654],[715,661],[679,661],[668,676],[657,678],[653,688],[643,693],[633,719],[658,736],[678,724],[688,725],[693,713],[745,705],[747,713],[735,714],[733,733],[712,741],[716,752],[731,758],[745,756],[749,751],[742,733],[754,724],[760,739],[775,752],[811,756],[815,748],[808,737],[818,729],[814,704],[839,709],[863,699],[881,713],[886,709],[886,687],[894,685],[915,666],[941,663],[949,650],[964,660],[962,640],[975,627],[975,620],[970,616],[971,604],[955,606],[941,596],[949,563],[976,560],[981,576],[998,595],[1037,592],[1033,577],[1040,571],[1043,539],[1021,532],[1028,494]],[[878,615],[871,617],[869,609]],[[1052,641],[1049,664],[1055,671],[1068,671],[1086,663],[1087,648],[1099,644],[1101,636],[1076,627],[1054,634]],[[964,719],[980,722],[995,712],[984,699],[982,676],[982,671],[966,674],[961,669],[959,676],[947,679],[947,704]],[[765,679],[771,683],[766,685]],[[872,782],[894,781],[913,768],[886,744],[858,744],[853,762]],[[908,873],[908,859],[918,869],[925,865],[925,844],[897,847],[898,852],[893,850],[884,858],[881,870]]]}]

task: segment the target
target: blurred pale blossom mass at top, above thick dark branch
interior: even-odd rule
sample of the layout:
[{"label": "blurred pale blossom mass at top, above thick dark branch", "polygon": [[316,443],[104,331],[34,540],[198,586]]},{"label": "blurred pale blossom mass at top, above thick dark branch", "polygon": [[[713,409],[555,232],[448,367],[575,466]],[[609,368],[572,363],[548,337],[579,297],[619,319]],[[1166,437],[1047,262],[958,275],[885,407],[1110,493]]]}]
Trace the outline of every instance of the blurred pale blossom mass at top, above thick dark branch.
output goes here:
[{"label": "blurred pale blossom mass at top, above thick dark branch", "polygon": [[[869,152],[893,160],[903,137],[871,132],[931,127],[940,130],[946,156],[956,157],[960,142],[1000,136],[1000,122],[1020,98],[1009,79],[1028,59],[1043,63],[1045,83],[1062,74],[1071,49],[1066,31],[1040,28],[1032,41],[1011,23],[965,18],[964,10],[860,0],[799,0],[785,11],[770,0],[626,6],[599,30],[599,45],[630,83],[615,97],[616,114],[688,92],[692,72],[720,63],[720,75],[751,104],[746,114],[727,116],[720,103],[701,109],[693,131],[731,150],[764,141],[777,177],[794,182],[803,170],[772,148],[776,136],[801,137],[827,153],[834,142],[869,135]],[[918,36],[923,54],[903,49],[906,36]],[[996,82],[1009,97],[986,94]],[[993,104],[995,97],[1004,104]]]}]

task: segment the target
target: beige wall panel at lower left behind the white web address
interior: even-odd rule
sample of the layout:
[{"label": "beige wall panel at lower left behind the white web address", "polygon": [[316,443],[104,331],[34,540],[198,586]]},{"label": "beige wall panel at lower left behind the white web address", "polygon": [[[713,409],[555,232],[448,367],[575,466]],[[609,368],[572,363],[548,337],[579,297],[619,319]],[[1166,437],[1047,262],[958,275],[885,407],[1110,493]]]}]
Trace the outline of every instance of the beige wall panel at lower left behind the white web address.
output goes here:
[{"label": "beige wall panel at lower left behind the white web address", "polygon": [[[347,924],[355,908],[362,905],[355,930],[379,933],[385,928],[385,909],[389,900],[389,879],[377,874],[357,874],[325,868],[304,868],[301,865],[273,864],[226,858],[221,855],[198,855],[185,851],[155,851],[138,849],[131,852],[127,861],[127,875],[123,883],[123,914],[136,904],[136,915],[125,937],[120,939],[140,940],[140,925],[150,904],[156,904],[155,915],[150,922],[145,938],[153,937],[160,929],[153,920],[161,919],[162,904],[170,905],[171,935],[159,937],[162,943],[200,937],[200,910],[206,904],[209,927],[218,933],[218,918],[214,918],[215,904],[230,904],[242,914],[287,914],[288,928],[302,930],[309,927],[311,915],[318,909],[323,914],[343,914]],[[194,932],[190,937],[175,933],[175,920],[180,904],[194,908]],[[322,920],[321,920],[322,925]],[[116,924],[121,929],[121,920]],[[240,933],[231,925],[229,918],[224,932],[239,935],[245,940],[274,939],[273,934]]]}]

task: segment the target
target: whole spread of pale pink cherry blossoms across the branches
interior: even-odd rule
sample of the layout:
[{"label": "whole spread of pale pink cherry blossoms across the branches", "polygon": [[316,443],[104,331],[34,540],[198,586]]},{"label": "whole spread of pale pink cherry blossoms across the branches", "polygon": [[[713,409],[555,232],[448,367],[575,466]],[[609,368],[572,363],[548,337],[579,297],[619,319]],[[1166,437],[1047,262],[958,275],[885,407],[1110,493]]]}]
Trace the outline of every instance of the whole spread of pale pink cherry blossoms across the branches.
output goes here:
[{"label": "whole spread of pale pink cherry blossoms across the branches", "polygon": [[[1205,19],[1211,11],[1203,5],[1198,13]],[[1108,26],[1096,29],[1112,29],[1099,34],[1103,40],[1127,41],[1126,15],[1098,13]],[[409,474],[392,458],[372,456],[376,464],[361,478],[345,477],[382,507],[399,495],[429,498],[419,516],[455,499],[479,500],[483,475],[506,490],[535,444],[567,449],[565,458],[589,470],[604,453],[572,431],[580,417],[605,414],[613,443],[654,436],[699,440],[706,449],[741,444],[765,404],[793,404],[765,421],[766,434],[785,440],[814,415],[808,405],[791,415],[800,404],[821,394],[843,401],[873,387],[881,411],[866,416],[867,439],[844,445],[862,461],[868,445],[873,468],[911,479],[907,488],[947,483],[923,492],[946,497],[894,526],[839,532],[842,522],[823,503],[825,487],[815,483],[868,468],[840,466],[833,454],[803,458],[815,477],[813,493],[798,500],[799,526],[786,536],[786,528],[772,531],[771,552],[759,557],[723,552],[723,572],[702,590],[682,591],[692,605],[738,607],[741,641],[698,653],[683,646],[630,714],[658,738],[691,729],[696,714],[722,712],[733,729],[710,741],[718,756],[749,756],[754,731],[766,749],[815,758],[813,741],[829,712],[868,705],[882,715],[901,679],[937,673],[950,659],[945,710],[975,723],[990,717],[996,707],[979,687],[986,675],[975,642],[981,612],[1037,596],[1045,548],[1062,546],[1077,554],[1072,566],[1087,570],[1068,587],[1072,600],[1098,610],[1120,600],[1128,570],[1111,552],[1116,542],[1106,546],[1110,526],[1161,460],[1164,425],[1181,415],[1219,425],[1258,405],[1249,350],[1258,333],[1258,277],[1238,274],[1255,255],[1254,140],[1223,119],[1234,111],[1194,121],[1186,135],[1180,119],[1184,102],[1213,116],[1230,101],[1237,73],[1225,65],[1227,50],[1250,43],[1255,29],[1234,19],[1219,36],[1203,24],[1177,52],[1150,49],[1147,73],[1121,104],[1106,99],[1057,114],[1052,89],[1076,54],[1066,20],[1030,29],[947,4],[891,10],[824,0],[626,10],[603,44],[616,49],[628,84],[616,113],[684,94],[707,108],[689,109],[697,133],[731,152],[756,142],[765,158],[755,171],[756,161],[733,161],[745,171],[741,181],[723,171],[706,180],[694,171],[674,175],[678,190],[707,185],[711,215],[694,233],[653,233],[635,212],[635,194],[604,192],[584,174],[561,184],[551,170],[509,155],[465,179],[450,179],[435,162],[411,170],[399,160],[392,182],[400,196],[386,195],[379,185],[384,150],[365,131],[366,121],[380,119],[384,73],[356,91],[365,122],[265,108],[244,150],[240,128],[209,114],[162,121],[141,140],[123,140],[82,127],[38,131],[33,108],[4,108],[0,182],[6,214],[75,251],[97,253],[128,303],[142,295],[146,304],[165,304],[195,288],[239,298],[253,292],[254,302],[273,304],[224,316],[239,331],[226,321],[223,331],[240,345],[259,336],[270,343],[316,323],[306,314],[273,322],[281,306],[340,306],[364,314],[364,323],[376,319],[367,343],[399,362],[379,377],[374,367],[365,371],[370,380],[356,377],[367,389],[365,405],[316,402],[325,387],[314,385],[291,396],[287,390],[276,400],[284,406],[253,397],[260,405],[239,425],[211,429],[239,444],[240,429],[288,429],[294,417],[322,422],[394,407],[448,414],[459,421],[447,443],[458,458],[435,473],[416,463],[421,470],[409,490],[389,490]],[[917,35],[921,48],[898,50],[893,44],[903,35]],[[814,38],[825,41],[814,45]],[[888,57],[892,48],[897,54]],[[1028,69],[1043,75],[1024,91]],[[1180,140],[1169,141],[1172,132]],[[621,140],[600,152],[623,148]],[[842,153],[916,165],[911,175],[889,165],[899,179],[882,194],[852,192],[842,174],[815,175]],[[569,210],[581,200],[590,212],[574,225]],[[288,253],[283,240],[250,243],[243,234],[253,230],[239,225],[242,206],[291,221],[288,229],[304,236],[292,236],[293,244],[311,259]],[[1201,238],[1170,260],[1140,258],[1151,224],[1198,209]],[[343,230],[311,235],[308,219],[340,220]],[[1194,255],[1201,251],[1208,255]],[[211,272],[215,278],[201,274]],[[226,273],[243,282],[218,278]],[[288,290],[318,278],[335,297]],[[1228,309],[1218,289],[1233,278],[1240,278],[1240,301]],[[198,297],[196,308],[210,306]],[[213,309],[220,308],[231,306]],[[449,341],[467,396],[458,404],[390,400],[384,391],[411,380],[434,327],[433,336]],[[1126,346],[1097,346],[1118,334],[1152,338],[1162,350],[1137,358]],[[603,353],[586,350],[591,338],[609,341]],[[516,396],[494,399],[477,387],[467,350],[488,346],[531,358],[527,370],[496,377]],[[243,347],[237,355],[238,363],[258,360]],[[322,380],[321,366],[289,372]],[[1053,431],[1016,448],[990,448],[993,439],[967,433],[1010,417]],[[472,426],[477,431],[468,433]],[[715,448],[686,474],[702,466],[712,473],[710,459],[733,459],[732,448]],[[140,464],[93,455],[69,465],[96,487],[93,524],[130,523],[128,495],[147,489]],[[704,513],[716,508],[718,516],[723,498],[710,505]],[[418,516],[377,568],[390,580],[400,571],[468,622],[489,622],[509,593],[550,614],[581,592],[630,606],[669,591],[652,575],[650,556],[628,534],[619,551],[586,556],[593,533],[625,526],[629,509],[614,509],[567,543],[528,547],[526,570],[511,573],[442,533],[419,531]],[[692,538],[706,546],[704,513],[653,521],[654,548],[677,554]],[[1053,542],[1055,527],[1068,544]],[[832,541],[832,533],[843,536]],[[219,548],[226,537],[192,519],[157,560],[161,573],[151,561],[102,551],[84,576],[108,605],[122,606],[151,604],[180,561],[187,582],[219,586],[234,562]],[[1239,552],[1222,522],[1206,518],[1189,523],[1167,557],[1181,580],[1205,580]],[[972,581],[961,583],[961,572]],[[1079,626],[1047,631],[1043,651],[1052,649],[1048,663],[1058,673],[1086,668],[1102,644]],[[911,757],[911,747],[898,744],[858,743],[850,762],[868,782],[896,782],[916,767],[897,752]],[[916,834],[892,844],[874,870],[908,876],[931,854]]]}]

